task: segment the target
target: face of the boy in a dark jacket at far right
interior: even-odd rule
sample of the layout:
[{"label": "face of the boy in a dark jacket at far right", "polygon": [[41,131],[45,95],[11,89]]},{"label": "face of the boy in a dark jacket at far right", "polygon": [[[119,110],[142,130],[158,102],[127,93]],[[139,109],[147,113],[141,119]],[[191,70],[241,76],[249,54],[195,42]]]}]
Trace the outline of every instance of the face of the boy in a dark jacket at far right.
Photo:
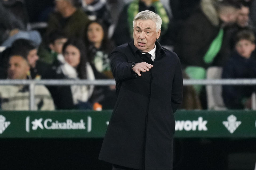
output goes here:
[{"label": "face of the boy in a dark jacket at far right", "polygon": [[255,44],[251,43],[249,40],[240,40],[235,45],[235,49],[240,56],[244,58],[250,58],[251,53],[255,49]]}]

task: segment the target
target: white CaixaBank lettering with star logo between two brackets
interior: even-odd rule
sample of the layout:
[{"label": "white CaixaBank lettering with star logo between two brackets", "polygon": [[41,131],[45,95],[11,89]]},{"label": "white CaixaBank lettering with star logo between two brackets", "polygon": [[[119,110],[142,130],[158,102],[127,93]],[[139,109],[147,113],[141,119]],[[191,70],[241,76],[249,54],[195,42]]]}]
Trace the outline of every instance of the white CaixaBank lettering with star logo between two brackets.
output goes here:
[{"label": "white CaixaBank lettering with star logo between two brackets", "polygon": [[[32,126],[32,128],[30,128]],[[91,131],[91,117],[87,116],[87,120],[80,119],[79,122],[75,122],[72,119],[66,119],[66,121],[58,121],[53,120],[51,118],[38,118],[30,121],[30,116],[26,117],[26,131],[30,132],[30,130],[87,130],[87,132]]]}]

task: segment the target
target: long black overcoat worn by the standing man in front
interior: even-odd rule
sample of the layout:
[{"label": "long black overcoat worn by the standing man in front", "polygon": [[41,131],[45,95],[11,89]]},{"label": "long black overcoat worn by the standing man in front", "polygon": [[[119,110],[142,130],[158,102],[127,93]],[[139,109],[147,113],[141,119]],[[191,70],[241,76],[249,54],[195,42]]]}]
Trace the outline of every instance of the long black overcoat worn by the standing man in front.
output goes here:
[{"label": "long black overcoat worn by the standing man in front", "polygon": [[[111,70],[117,101],[110,118],[99,159],[124,167],[171,170],[174,112],[182,102],[183,79],[178,56],[157,41],[154,62],[134,46],[116,47]],[[141,77],[131,70],[134,62],[151,63]]]}]

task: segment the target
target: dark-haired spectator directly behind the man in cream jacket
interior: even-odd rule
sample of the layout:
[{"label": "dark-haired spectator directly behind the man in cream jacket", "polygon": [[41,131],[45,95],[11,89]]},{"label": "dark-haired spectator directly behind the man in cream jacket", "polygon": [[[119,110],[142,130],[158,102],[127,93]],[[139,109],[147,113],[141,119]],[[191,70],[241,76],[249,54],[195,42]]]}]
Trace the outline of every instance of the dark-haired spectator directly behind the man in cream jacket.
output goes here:
[{"label": "dark-haired spectator directly behind the man in cream jacket", "polygon": [[14,41],[10,48],[7,48],[3,54],[1,54],[0,67],[7,68],[7,61],[11,55],[21,55],[26,56],[27,61],[30,66],[30,76],[32,79],[41,79],[44,76],[45,71],[48,69],[49,65],[42,61],[39,61],[37,55],[37,47],[33,43],[26,39],[18,39]]}]

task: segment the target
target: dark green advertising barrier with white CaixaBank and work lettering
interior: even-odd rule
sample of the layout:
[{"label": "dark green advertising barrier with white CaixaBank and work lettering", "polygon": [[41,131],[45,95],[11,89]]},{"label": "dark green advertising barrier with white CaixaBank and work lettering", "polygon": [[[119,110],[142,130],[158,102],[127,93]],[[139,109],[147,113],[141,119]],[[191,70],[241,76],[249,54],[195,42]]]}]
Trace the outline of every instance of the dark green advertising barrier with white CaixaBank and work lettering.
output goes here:
[{"label": "dark green advertising barrier with white CaixaBank and work lettering", "polygon": [[[103,138],[111,111],[1,111],[0,138]],[[177,111],[175,137],[256,137],[255,111]]]}]

